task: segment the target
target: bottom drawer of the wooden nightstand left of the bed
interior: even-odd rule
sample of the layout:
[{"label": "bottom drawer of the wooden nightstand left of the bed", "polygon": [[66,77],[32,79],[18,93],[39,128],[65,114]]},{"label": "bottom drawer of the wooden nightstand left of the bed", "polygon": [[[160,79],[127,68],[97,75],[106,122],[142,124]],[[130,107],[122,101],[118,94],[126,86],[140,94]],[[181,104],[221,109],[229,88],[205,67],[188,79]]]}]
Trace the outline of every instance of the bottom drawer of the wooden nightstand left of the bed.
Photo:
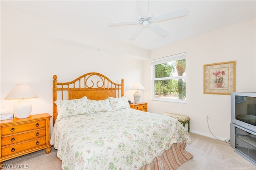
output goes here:
[{"label": "bottom drawer of the wooden nightstand left of the bed", "polygon": [[2,157],[16,154],[25,150],[34,149],[42,145],[46,145],[46,137],[17,143],[16,145],[8,145],[6,147],[2,147]]}]

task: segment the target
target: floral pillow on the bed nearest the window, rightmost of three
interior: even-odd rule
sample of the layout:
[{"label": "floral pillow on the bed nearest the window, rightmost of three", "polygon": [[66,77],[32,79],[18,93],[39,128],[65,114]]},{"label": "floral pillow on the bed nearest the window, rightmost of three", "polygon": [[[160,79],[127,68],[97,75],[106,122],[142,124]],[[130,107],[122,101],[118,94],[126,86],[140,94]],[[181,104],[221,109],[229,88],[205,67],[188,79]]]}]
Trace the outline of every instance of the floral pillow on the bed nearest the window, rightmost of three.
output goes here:
[{"label": "floral pillow on the bed nearest the window, rightmost of three", "polygon": [[130,108],[126,96],[122,96],[121,98],[109,97],[108,100],[112,106],[113,111]]}]

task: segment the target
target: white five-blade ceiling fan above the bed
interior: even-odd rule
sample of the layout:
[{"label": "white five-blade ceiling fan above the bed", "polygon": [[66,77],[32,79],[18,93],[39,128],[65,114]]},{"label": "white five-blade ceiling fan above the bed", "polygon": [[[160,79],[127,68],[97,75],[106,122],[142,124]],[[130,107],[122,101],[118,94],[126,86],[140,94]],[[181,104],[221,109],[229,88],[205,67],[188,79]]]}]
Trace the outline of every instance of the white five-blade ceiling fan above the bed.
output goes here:
[{"label": "white five-blade ceiling fan above the bed", "polygon": [[[161,35],[162,37],[168,35],[168,32],[158,25],[152,23],[152,22],[159,22],[159,21],[164,21],[164,20],[170,20],[173,18],[178,18],[182,16],[186,16],[188,14],[188,9],[187,8],[182,8],[180,10],[172,11],[167,14],[163,14],[157,17],[154,17],[153,14],[148,12],[149,8],[149,3],[148,0],[137,0],[137,6],[138,10],[140,12],[140,16],[138,16],[138,21],[125,21],[125,22],[110,22],[108,23],[108,26],[120,26],[120,25],[135,25],[135,24],[141,24],[142,26],[138,27],[134,33],[130,36],[130,40],[135,39],[137,35],[142,31],[143,28],[145,27],[150,27],[153,31]],[[145,8],[147,7],[147,8]]]}]

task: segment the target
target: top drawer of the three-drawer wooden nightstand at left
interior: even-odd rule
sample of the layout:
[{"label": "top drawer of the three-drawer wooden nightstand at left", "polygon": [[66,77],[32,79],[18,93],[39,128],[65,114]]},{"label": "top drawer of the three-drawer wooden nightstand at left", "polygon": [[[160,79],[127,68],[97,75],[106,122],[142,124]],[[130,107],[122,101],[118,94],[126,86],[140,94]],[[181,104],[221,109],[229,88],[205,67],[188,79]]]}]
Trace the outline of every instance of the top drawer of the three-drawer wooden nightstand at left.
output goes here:
[{"label": "top drawer of the three-drawer wooden nightstand at left", "polygon": [[24,131],[30,131],[33,129],[40,129],[46,127],[46,120],[32,121],[29,123],[21,123],[2,127],[2,136],[10,135],[14,133],[20,133]]}]

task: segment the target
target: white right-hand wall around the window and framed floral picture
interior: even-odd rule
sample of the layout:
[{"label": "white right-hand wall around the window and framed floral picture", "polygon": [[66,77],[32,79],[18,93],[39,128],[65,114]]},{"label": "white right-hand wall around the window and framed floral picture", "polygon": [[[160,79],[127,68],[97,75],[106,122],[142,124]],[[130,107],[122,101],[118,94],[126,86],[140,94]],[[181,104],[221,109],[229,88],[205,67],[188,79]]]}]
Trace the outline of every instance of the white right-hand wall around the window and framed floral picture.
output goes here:
[{"label": "white right-hand wall around the window and framed floral picture", "polygon": [[255,18],[151,51],[151,59],[186,52],[186,104],[151,100],[150,61],[144,61],[144,101],[148,111],[188,115],[190,129],[230,139],[230,95],[203,94],[203,65],[236,61],[236,91],[256,92]]}]

